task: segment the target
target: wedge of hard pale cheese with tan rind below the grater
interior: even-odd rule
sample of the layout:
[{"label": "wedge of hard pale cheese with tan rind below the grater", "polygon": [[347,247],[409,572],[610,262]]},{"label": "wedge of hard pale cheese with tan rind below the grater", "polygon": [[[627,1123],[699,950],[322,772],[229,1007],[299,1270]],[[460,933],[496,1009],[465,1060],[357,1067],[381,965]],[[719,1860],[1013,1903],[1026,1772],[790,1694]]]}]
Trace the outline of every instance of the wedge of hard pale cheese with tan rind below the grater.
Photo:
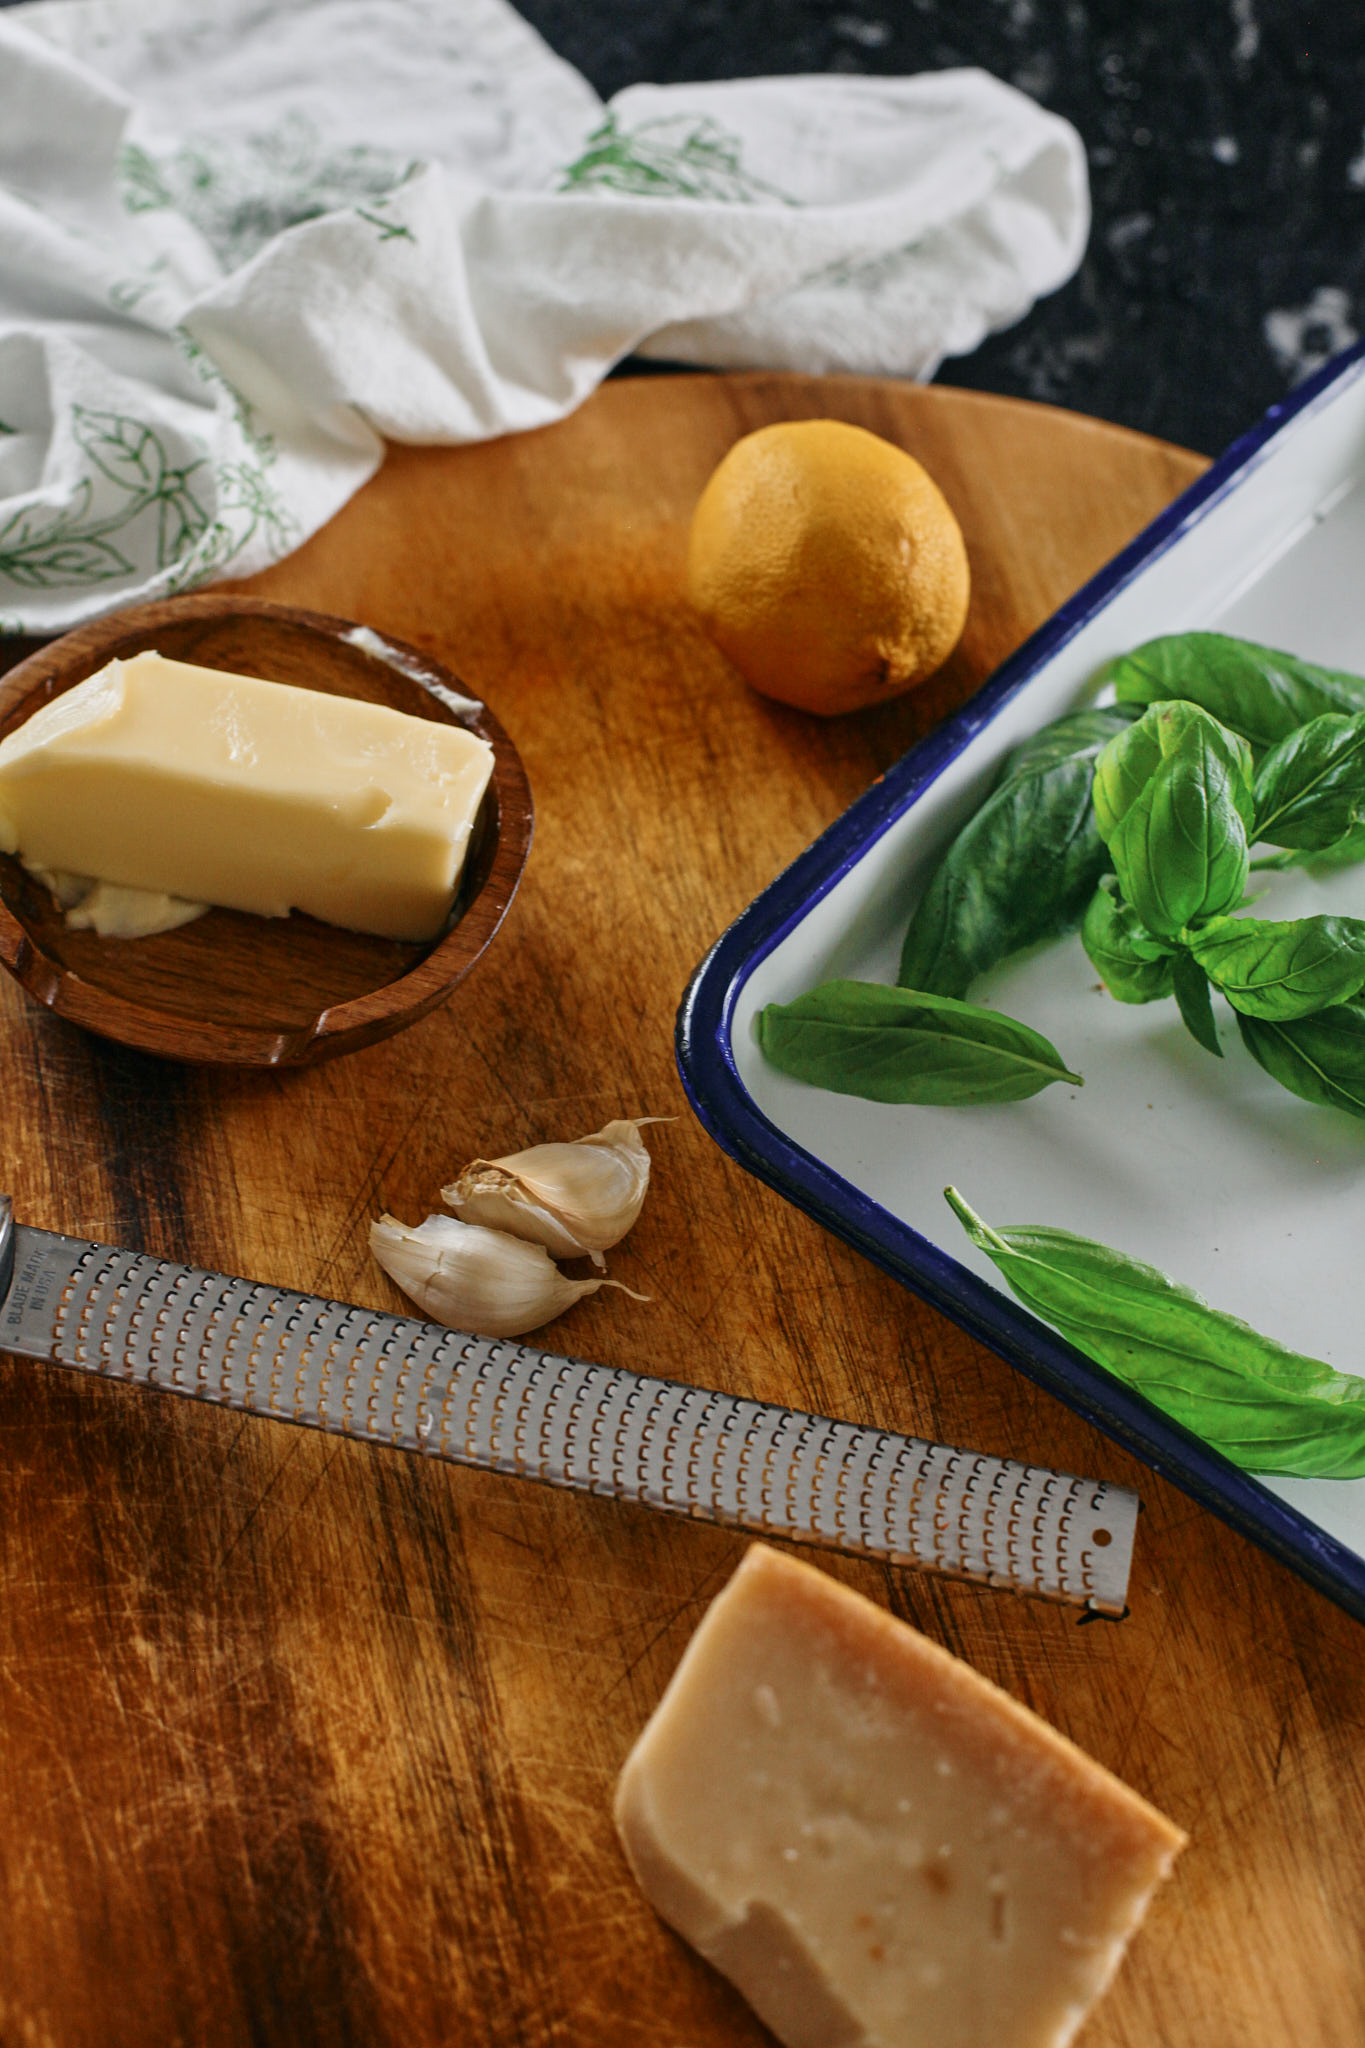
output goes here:
[{"label": "wedge of hard pale cheese with tan rind below the grater", "polygon": [[616,1792],[651,1905],[786,2048],[1062,2048],[1185,1837],[999,1688],[755,1544]]}]

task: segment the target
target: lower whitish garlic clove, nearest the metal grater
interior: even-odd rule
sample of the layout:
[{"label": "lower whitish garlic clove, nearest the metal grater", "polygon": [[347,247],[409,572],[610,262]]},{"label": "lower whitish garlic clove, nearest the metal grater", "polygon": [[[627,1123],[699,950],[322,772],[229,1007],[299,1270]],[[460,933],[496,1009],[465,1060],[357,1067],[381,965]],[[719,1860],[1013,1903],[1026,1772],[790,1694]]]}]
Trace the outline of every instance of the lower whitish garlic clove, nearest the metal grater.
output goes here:
[{"label": "lower whitish garlic clove, nearest the metal grater", "polygon": [[481,1337],[520,1337],[600,1286],[649,1298],[620,1280],[569,1280],[542,1245],[454,1217],[413,1227],[385,1214],[370,1225],[370,1251],[434,1323]]}]

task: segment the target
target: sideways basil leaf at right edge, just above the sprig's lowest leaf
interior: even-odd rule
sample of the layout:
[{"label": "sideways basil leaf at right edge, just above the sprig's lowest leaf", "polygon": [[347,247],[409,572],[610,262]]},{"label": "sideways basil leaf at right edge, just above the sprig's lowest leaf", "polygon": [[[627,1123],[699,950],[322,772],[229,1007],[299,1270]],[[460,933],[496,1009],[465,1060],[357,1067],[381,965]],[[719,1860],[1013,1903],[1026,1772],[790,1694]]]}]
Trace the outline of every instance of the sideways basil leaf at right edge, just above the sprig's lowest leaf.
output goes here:
[{"label": "sideways basil leaf at right edge, just above the sprig's lowest leaf", "polygon": [[1345,1004],[1365,987],[1359,918],[1209,918],[1189,950],[1242,1016],[1293,1022]]}]

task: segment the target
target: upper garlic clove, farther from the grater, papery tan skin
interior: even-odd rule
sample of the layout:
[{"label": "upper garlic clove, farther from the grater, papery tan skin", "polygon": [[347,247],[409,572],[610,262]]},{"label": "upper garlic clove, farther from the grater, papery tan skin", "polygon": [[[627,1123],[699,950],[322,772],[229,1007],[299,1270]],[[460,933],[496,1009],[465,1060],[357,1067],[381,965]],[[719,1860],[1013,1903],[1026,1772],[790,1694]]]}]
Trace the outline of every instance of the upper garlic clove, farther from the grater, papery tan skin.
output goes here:
[{"label": "upper garlic clove, farther from the grater, papery tan skin", "polygon": [[512,1231],[559,1260],[602,1253],[620,1243],[649,1188],[649,1151],[641,1124],[671,1116],[618,1116],[585,1139],[530,1145],[501,1159],[473,1159],[440,1190],[456,1217]]}]

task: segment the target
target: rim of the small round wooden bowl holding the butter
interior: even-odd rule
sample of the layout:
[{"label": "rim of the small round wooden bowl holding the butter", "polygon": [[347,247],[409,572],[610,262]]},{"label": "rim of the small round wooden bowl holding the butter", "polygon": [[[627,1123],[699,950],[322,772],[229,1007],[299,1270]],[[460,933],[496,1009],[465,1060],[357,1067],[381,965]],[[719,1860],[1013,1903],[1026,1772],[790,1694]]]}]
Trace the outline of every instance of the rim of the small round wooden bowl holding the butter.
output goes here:
[{"label": "rim of the small round wooden bowl holding the butter", "polygon": [[[272,618],[368,655],[368,659],[397,670],[430,692],[434,723],[452,723],[489,741],[493,774],[485,805],[493,805],[493,858],[454,926],[395,981],[332,1004],[319,1010],[309,1024],[293,1030],[270,1024],[219,1024],[211,1018],[158,1010],[113,989],[100,989],[45,952],[4,899],[0,899],[0,967],[55,1016],[141,1053],[192,1065],[303,1067],[405,1030],[450,995],[489,946],[512,907],[534,834],[534,805],[526,768],[503,725],[481,698],[469,694],[458,676],[442,662],[391,633],[362,629],[360,621],[305,610],[297,604],[276,604],[270,598],[227,592],[160,598],[74,627],[0,676],[0,721],[8,719],[18,705],[31,702],[31,709],[37,711],[41,702],[61,696],[113,659],[121,647],[127,647],[129,639],[145,637],[151,643],[151,637],[170,625],[184,621],[209,625],[239,616]],[[383,653],[377,647],[358,645],[356,631],[372,633]],[[456,713],[442,700],[440,690],[463,696],[469,711]]]}]

